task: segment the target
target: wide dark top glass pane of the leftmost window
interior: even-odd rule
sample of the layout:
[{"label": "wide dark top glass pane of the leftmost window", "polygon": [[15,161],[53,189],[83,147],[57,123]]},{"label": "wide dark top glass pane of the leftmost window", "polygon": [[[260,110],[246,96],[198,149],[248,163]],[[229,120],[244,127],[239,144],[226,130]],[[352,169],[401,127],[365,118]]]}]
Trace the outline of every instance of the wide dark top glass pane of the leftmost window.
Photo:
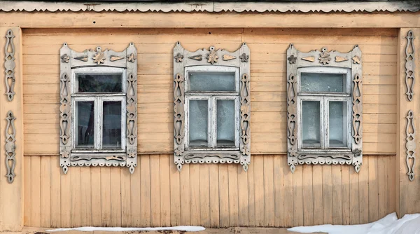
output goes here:
[{"label": "wide dark top glass pane of the leftmost window", "polygon": [[123,92],[122,74],[76,74],[78,92]]}]

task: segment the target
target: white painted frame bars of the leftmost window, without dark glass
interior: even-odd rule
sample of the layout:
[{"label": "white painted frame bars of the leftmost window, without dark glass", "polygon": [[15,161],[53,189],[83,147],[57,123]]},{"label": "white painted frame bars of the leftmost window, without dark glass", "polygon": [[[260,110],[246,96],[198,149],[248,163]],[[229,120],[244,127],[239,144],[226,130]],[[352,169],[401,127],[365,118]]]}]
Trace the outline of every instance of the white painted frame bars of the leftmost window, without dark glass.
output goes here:
[{"label": "white painted frame bars of the leftmost window, without dark glass", "polygon": [[[76,92],[78,90],[77,74],[121,74],[122,92]],[[126,96],[127,96],[127,72],[126,69],[119,67],[82,67],[71,69],[71,130],[74,135],[78,132],[78,109],[76,102],[94,102],[94,146],[78,147],[78,137],[72,137],[73,149],[71,153],[125,153],[126,151]],[[121,102],[121,145],[118,149],[102,149],[102,123],[103,123],[103,102],[115,101]]]}]

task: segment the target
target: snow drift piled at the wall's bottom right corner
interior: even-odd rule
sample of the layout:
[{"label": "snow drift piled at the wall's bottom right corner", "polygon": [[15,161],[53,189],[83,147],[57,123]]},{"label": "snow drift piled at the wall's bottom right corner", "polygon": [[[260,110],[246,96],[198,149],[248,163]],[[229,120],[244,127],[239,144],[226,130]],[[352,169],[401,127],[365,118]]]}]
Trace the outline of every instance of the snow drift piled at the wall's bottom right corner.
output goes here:
[{"label": "snow drift piled at the wall's bottom right corner", "polygon": [[420,234],[420,214],[406,214],[398,219],[397,214],[388,214],[382,219],[373,223],[360,225],[318,225],[318,226],[301,226],[289,228],[288,230],[300,233],[322,232],[329,234]]}]

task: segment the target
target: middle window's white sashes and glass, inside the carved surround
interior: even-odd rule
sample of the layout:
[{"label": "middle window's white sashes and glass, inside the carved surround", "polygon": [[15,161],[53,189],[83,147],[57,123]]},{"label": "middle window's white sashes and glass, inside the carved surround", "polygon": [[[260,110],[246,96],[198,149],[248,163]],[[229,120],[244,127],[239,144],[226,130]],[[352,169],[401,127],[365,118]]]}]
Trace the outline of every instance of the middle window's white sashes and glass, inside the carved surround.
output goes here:
[{"label": "middle window's white sashes and glass, inside the carved surround", "polygon": [[[238,150],[239,69],[215,66],[186,67],[185,74],[188,125],[186,149]],[[196,88],[194,82],[197,81],[194,79],[205,78],[209,78],[211,82],[205,82],[201,88]]]}]

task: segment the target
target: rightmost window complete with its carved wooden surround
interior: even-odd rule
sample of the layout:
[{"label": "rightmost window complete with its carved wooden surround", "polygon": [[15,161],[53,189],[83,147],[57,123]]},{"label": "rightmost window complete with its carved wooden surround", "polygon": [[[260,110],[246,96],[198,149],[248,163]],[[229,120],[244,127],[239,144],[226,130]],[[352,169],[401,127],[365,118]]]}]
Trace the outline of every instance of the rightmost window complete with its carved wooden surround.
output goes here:
[{"label": "rightmost window complete with its carved wooden surround", "polygon": [[361,52],[288,49],[288,165],[362,163]]}]

